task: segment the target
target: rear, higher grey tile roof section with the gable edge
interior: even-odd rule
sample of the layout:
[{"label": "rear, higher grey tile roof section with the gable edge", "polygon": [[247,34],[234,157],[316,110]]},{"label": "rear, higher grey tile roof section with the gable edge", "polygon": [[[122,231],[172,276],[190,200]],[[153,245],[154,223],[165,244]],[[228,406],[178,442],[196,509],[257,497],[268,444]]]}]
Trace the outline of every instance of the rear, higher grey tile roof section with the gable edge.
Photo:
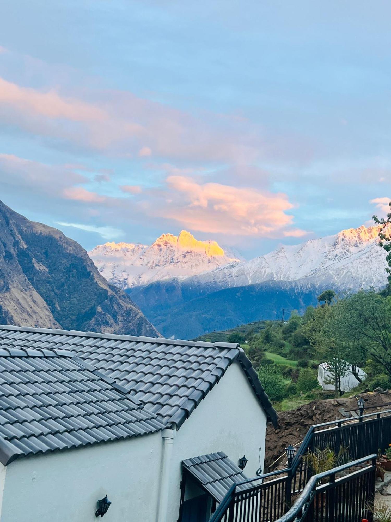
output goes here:
[{"label": "rear, higher grey tile roof section with the gable edge", "polygon": [[179,429],[231,363],[245,372],[274,425],[277,414],[251,362],[234,343],[0,326],[0,347],[69,349],[131,390],[133,398]]}]

